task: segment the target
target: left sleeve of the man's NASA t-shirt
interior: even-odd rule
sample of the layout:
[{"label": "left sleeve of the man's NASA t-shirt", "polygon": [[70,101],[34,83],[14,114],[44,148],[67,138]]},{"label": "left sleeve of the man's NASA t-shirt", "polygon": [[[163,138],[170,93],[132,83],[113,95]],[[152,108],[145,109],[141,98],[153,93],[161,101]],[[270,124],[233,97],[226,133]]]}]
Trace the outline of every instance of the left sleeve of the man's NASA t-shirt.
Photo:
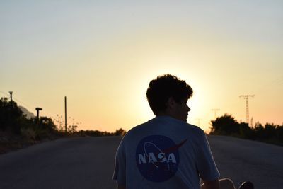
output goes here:
[{"label": "left sleeve of the man's NASA t-shirt", "polygon": [[125,185],[126,183],[126,159],[125,159],[125,150],[120,143],[116,156],[115,156],[115,170],[113,173],[113,180],[117,180],[118,184]]}]

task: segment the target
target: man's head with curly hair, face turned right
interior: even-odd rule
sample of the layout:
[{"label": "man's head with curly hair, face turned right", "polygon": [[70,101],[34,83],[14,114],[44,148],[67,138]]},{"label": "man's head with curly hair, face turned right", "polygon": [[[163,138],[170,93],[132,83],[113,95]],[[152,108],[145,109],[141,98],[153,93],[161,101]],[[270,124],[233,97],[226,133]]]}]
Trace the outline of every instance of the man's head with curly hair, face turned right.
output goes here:
[{"label": "man's head with curly hair, face turned right", "polygon": [[187,120],[187,100],[192,96],[192,88],[183,80],[171,74],[158,76],[149,83],[146,97],[155,115],[170,115],[179,120]]}]

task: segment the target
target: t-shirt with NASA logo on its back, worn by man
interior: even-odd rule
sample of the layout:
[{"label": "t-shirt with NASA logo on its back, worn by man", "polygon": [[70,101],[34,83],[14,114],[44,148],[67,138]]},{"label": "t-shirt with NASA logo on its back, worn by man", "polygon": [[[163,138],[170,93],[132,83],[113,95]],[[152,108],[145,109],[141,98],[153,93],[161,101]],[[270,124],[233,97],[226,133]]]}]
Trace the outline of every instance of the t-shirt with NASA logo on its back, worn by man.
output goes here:
[{"label": "t-shirt with NASA logo on its back, worn by man", "polygon": [[120,142],[113,179],[137,188],[200,188],[219,178],[207,137],[199,127],[158,116],[129,130]]}]

